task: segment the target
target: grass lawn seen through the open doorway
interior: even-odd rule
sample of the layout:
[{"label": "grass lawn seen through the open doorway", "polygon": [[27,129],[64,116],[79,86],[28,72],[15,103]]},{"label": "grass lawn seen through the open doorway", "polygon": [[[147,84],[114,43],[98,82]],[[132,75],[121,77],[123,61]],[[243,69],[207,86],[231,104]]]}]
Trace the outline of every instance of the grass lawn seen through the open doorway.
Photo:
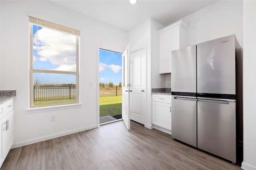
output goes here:
[{"label": "grass lawn seen through the open doorway", "polygon": [[100,117],[122,114],[122,96],[100,97]]}]

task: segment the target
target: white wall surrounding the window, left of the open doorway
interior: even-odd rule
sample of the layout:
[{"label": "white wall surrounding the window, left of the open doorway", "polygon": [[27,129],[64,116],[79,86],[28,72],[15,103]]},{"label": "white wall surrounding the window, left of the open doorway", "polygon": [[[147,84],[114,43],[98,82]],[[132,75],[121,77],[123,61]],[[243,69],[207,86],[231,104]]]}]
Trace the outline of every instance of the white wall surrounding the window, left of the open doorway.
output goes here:
[{"label": "white wall surrounding the window, left of the open doorway", "polygon": [[[40,8],[39,8],[40,7]],[[26,12],[34,12],[80,29],[81,107],[28,113],[29,27]],[[98,47],[123,51],[128,32],[68,11],[47,1],[1,1],[1,90],[16,90],[14,147],[58,135],[98,127]],[[89,87],[89,81],[93,87]],[[50,115],[56,121],[50,122]]]}]

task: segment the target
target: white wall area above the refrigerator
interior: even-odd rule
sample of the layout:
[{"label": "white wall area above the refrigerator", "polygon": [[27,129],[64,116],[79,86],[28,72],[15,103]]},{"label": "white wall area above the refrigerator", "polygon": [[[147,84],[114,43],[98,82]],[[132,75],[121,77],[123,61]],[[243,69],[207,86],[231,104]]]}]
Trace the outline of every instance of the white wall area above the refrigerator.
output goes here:
[{"label": "white wall area above the refrigerator", "polygon": [[182,18],[188,25],[188,45],[236,34],[243,47],[243,1],[221,0]]}]

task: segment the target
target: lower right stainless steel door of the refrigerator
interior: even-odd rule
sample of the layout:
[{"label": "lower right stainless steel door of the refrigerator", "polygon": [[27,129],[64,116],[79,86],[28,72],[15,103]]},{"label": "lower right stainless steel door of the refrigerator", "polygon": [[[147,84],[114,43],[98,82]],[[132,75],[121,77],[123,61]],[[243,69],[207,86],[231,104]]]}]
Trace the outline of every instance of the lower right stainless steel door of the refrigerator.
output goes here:
[{"label": "lower right stainless steel door of the refrigerator", "polygon": [[198,99],[198,148],[236,162],[236,102]]}]

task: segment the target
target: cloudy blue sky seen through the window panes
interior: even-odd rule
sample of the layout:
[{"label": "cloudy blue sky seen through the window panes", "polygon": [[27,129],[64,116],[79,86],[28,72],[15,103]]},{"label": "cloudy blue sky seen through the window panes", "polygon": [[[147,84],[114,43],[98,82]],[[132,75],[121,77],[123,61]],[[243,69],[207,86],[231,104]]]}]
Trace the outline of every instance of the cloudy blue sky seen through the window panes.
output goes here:
[{"label": "cloudy blue sky seen through the window panes", "polygon": [[[76,36],[33,25],[33,68],[76,71]],[[34,73],[33,78],[39,84],[76,84],[74,74]]]}]

